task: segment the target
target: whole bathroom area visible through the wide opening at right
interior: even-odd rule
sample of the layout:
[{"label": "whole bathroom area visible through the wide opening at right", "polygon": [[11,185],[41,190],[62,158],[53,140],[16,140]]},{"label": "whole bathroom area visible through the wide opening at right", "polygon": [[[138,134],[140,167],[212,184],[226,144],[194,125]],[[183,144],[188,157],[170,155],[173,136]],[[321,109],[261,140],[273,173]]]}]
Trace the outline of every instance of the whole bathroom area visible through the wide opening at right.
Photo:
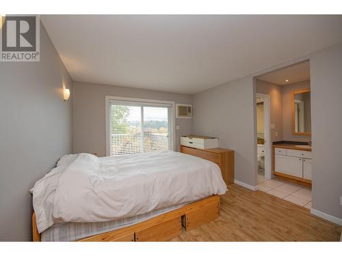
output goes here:
[{"label": "whole bathroom area visible through the wide opening at right", "polygon": [[259,190],[311,208],[310,63],[256,78]]}]

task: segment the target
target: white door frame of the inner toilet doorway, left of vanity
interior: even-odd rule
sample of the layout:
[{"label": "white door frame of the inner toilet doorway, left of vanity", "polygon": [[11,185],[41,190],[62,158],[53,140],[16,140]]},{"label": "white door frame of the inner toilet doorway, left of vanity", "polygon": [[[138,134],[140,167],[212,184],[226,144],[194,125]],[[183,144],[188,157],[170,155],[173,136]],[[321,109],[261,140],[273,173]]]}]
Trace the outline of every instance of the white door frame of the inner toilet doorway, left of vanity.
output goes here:
[{"label": "white door frame of the inner toilet doorway, left of vanity", "polygon": [[264,134],[265,134],[265,177],[272,178],[272,141],[271,141],[271,113],[270,98],[268,94],[259,94],[256,96],[263,98],[263,115],[264,115]]}]

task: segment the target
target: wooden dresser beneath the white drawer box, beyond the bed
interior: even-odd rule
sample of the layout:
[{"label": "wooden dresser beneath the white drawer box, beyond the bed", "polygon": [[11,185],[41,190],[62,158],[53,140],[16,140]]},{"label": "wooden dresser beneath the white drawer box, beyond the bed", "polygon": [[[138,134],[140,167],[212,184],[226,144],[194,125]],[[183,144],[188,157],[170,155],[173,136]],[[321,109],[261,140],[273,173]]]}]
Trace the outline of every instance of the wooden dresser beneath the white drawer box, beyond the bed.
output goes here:
[{"label": "wooden dresser beneath the white drawer box, beyond the bed", "polygon": [[221,169],[224,182],[226,182],[227,185],[234,183],[234,150],[220,147],[199,150],[197,148],[181,145],[181,153],[198,156],[217,163]]}]

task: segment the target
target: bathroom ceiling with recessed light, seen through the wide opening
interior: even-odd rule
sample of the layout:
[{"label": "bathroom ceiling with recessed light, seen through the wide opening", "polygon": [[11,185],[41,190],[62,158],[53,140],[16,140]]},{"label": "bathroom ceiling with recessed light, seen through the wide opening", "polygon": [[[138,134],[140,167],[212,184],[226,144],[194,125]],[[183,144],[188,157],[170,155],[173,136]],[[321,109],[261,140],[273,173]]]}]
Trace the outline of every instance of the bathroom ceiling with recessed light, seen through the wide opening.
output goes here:
[{"label": "bathroom ceiling with recessed light, seen through the wide opening", "polygon": [[310,62],[295,63],[294,65],[257,76],[257,79],[276,85],[289,85],[310,80]]}]

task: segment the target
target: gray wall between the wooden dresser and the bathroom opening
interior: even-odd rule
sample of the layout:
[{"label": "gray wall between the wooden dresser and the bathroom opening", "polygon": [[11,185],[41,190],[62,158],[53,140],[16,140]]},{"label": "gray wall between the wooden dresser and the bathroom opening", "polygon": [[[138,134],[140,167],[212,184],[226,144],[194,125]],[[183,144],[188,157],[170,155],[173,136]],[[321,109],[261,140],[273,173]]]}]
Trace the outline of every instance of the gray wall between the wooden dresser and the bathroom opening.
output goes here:
[{"label": "gray wall between the wooden dresser and the bathroom opening", "polygon": [[235,150],[235,180],[257,186],[257,122],[252,76],[194,94],[194,134]]}]

